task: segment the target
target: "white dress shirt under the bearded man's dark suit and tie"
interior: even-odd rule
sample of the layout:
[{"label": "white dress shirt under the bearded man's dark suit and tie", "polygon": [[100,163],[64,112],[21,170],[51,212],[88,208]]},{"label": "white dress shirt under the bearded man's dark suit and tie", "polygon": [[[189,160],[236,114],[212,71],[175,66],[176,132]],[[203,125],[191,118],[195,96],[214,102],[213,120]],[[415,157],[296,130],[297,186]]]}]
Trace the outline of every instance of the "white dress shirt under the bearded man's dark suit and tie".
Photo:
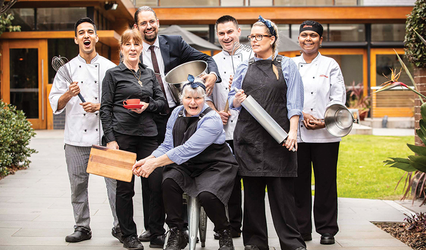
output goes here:
[{"label": "white dress shirt under the bearded man's dark suit and tie", "polygon": [[[174,102],[173,97],[171,96],[171,92],[168,89],[167,83],[165,82],[164,61],[162,60],[158,37],[155,39],[155,42],[152,45],[154,46],[155,57],[157,57],[158,69],[161,74],[161,80],[164,86],[164,91],[166,95],[165,97],[167,98],[168,106],[174,107],[176,103]],[[143,64],[148,66],[148,68],[154,70],[154,67],[152,66],[152,60],[151,60],[151,50],[149,49],[151,45],[149,45],[146,42],[142,42],[142,46],[143,46],[143,51],[142,51]]]}]

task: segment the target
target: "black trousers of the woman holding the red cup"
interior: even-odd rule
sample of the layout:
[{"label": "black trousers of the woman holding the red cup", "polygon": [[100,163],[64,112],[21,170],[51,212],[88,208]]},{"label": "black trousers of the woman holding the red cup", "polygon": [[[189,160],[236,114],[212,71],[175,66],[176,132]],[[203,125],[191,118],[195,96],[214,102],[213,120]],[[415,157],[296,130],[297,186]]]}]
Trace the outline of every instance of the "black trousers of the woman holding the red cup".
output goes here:
[{"label": "black trousers of the woman holding the red cup", "polygon": [[[158,147],[154,136],[134,136],[116,132],[114,134],[119,149],[136,153],[137,160],[149,156]],[[162,168],[157,167],[148,178],[141,178],[149,183],[149,230],[153,238],[165,232],[165,213],[161,197]],[[134,175],[131,182],[117,180],[116,209],[123,237],[137,233],[133,221],[133,196]]]}]

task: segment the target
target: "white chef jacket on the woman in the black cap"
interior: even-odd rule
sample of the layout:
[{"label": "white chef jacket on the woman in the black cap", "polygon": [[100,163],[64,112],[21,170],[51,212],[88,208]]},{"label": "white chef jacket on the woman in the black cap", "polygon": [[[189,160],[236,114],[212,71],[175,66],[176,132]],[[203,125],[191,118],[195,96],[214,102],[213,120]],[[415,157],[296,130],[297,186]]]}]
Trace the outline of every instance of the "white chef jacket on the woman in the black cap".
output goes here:
[{"label": "white chef jacket on the woman in the black cap", "polygon": [[[346,102],[346,88],[343,75],[337,62],[330,57],[318,55],[310,63],[306,63],[303,55],[292,57],[303,80],[304,102],[303,112],[316,118],[324,118],[326,107]],[[336,142],[341,138],[334,137],[327,129],[306,129],[299,123],[297,142]]]}]

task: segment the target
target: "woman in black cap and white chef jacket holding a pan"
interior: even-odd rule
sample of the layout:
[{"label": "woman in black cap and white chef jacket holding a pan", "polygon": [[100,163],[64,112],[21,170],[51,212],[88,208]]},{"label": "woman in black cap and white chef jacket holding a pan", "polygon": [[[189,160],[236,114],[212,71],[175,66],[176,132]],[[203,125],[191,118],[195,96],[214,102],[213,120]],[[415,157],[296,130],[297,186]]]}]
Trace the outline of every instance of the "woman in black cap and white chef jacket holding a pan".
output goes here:
[{"label": "woman in black cap and white chef jacket holding a pan", "polygon": [[303,79],[303,123],[300,123],[297,141],[298,174],[294,182],[297,222],[304,240],[312,235],[312,166],[315,176],[313,218],[315,229],[321,235],[321,244],[334,244],[337,226],[337,155],[339,137],[325,128],[325,108],[333,103],[346,102],[343,76],[337,62],[321,55],[322,25],[317,21],[300,24],[298,41],[302,54],[293,57]]}]

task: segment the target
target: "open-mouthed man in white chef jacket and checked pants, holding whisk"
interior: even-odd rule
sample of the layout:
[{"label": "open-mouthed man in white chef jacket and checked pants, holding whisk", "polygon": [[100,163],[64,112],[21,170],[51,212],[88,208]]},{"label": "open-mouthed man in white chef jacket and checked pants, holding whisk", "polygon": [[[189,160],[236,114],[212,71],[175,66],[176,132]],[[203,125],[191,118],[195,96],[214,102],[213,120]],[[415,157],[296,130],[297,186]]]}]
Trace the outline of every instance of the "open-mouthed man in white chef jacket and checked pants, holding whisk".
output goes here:
[{"label": "open-mouthed man in white chef jacket and checked pants, holding whisk", "polygon": [[[79,54],[65,65],[70,69],[73,82],[70,84],[57,73],[49,94],[53,113],[59,114],[63,110],[66,112],[64,149],[75,220],[74,232],[65,237],[67,242],[91,238],[87,192],[89,174],[86,168],[90,147],[92,144],[100,144],[103,133],[99,119],[102,80],[106,70],[115,66],[96,53],[95,43],[99,38],[96,26],[90,18],[79,19],[75,23],[74,31],[74,41],[78,44]],[[78,93],[81,93],[85,102],[77,96]],[[122,242],[115,212],[116,180],[105,177],[105,183],[114,218],[111,233]]]}]

